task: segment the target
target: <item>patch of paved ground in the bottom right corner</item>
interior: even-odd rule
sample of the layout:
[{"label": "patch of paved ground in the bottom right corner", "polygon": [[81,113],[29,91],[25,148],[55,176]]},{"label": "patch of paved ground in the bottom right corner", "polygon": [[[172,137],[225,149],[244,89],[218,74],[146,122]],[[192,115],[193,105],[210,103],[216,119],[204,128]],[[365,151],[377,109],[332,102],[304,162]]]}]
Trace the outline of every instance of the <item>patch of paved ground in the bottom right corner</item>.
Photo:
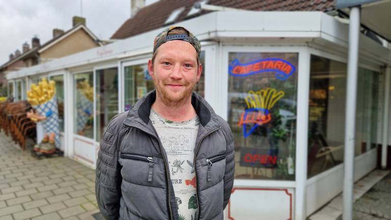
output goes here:
[{"label": "patch of paved ground in the bottom right corner", "polygon": [[355,220],[391,220],[391,173],[354,203]]}]

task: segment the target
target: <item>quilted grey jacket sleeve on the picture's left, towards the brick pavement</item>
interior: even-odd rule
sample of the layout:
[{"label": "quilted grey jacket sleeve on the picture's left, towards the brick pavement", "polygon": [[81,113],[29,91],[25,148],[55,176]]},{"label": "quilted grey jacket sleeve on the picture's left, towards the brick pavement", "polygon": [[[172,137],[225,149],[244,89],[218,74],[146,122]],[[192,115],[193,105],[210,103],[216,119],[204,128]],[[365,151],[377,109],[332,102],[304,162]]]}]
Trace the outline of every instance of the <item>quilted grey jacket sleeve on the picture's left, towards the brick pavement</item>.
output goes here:
[{"label": "quilted grey jacket sleeve on the picture's left, towards the brick pavement", "polygon": [[121,198],[121,168],[118,163],[121,117],[111,119],[103,133],[96,164],[95,195],[105,219],[118,219]]}]

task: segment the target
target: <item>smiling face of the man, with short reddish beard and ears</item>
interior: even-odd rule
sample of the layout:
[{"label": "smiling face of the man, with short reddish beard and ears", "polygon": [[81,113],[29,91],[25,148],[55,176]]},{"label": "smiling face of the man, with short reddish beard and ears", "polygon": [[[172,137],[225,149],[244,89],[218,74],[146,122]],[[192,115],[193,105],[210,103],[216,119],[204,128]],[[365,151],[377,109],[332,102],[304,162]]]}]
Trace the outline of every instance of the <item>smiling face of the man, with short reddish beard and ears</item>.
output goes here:
[{"label": "smiling face of the man, with short reddish beard and ears", "polygon": [[148,62],[157,95],[167,105],[175,105],[191,96],[198,82],[202,65],[197,65],[197,52],[188,42],[181,40],[163,43],[154,63]]}]

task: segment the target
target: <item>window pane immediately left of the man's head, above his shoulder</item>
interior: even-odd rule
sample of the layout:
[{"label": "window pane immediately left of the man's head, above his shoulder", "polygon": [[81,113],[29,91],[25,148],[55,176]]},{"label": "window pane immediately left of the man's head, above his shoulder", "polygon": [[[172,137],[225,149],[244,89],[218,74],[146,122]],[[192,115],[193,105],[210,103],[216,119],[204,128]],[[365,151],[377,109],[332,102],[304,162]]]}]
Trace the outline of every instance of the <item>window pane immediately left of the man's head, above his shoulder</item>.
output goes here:
[{"label": "window pane immediately left of the man's head, above his shoulder", "polygon": [[148,92],[155,89],[148,65],[127,66],[125,69],[125,111]]}]

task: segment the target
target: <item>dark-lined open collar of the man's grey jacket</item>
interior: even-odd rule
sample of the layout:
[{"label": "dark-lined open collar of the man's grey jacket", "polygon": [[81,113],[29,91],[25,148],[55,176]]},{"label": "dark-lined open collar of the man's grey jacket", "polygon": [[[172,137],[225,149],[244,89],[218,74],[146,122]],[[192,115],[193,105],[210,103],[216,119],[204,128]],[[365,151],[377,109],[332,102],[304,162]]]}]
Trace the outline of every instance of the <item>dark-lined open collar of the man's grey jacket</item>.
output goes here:
[{"label": "dark-lined open collar of the man's grey jacket", "polygon": [[[124,120],[123,124],[132,127],[147,127],[151,128],[149,115],[151,113],[151,106],[156,100],[156,90],[151,91],[142,99],[139,99],[133,107],[129,110],[129,113]],[[200,118],[201,125],[206,130],[211,130],[217,126],[220,126],[217,116],[214,113],[212,107],[206,102],[206,100],[196,93],[191,94],[191,104],[193,105],[195,112]],[[150,129],[151,130],[151,129]]]}]

